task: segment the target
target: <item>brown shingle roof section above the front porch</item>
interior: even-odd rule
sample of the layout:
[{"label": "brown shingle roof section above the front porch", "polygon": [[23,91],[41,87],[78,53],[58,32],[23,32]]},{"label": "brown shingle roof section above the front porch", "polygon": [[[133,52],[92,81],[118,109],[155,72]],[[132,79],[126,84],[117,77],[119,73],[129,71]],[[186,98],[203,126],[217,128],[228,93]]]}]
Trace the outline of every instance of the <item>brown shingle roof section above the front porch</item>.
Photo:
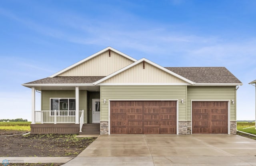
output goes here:
[{"label": "brown shingle roof section above the front porch", "polygon": [[65,76],[65,77],[47,77],[26,84],[53,84],[53,83],[94,83],[105,76]]}]

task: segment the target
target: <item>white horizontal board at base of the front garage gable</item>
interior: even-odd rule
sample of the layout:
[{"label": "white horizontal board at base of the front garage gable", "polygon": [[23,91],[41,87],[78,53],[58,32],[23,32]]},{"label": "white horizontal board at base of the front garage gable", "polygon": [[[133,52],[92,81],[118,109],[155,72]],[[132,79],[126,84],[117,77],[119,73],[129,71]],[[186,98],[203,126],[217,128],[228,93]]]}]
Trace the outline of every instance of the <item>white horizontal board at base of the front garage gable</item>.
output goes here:
[{"label": "white horizontal board at base of the front garage gable", "polygon": [[128,85],[128,86],[132,86],[132,85],[191,85],[190,83],[98,83],[97,85]]}]

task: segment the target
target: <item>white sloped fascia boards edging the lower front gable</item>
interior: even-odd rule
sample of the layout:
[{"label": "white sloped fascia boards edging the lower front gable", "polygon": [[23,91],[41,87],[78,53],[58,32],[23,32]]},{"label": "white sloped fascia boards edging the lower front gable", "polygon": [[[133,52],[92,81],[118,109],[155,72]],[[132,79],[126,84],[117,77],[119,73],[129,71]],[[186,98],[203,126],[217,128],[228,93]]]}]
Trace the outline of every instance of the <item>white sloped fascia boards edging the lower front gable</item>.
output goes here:
[{"label": "white sloped fascia boards edging the lower front gable", "polygon": [[130,65],[128,65],[128,66],[126,66],[126,67],[124,67],[124,68],[122,68],[122,69],[120,69],[120,70],[118,70],[118,71],[116,71],[116,72],[114,72],[114,73],[96,81],[96,82],[94,82],[94,85],[97,85],[97,84],[101,83],[102,81],[105,81],[105,80],[109,79],[110,77],[113,77],[113,76],[115,76],[115,75],[117,75],[117,74],[119,74],[119,73],[137,65],[138,63],[141,63],[142,61],[145,61],[145,62],[163,70],[163,71],[166,71],[167,73],[169,73],[171,75],[174,75],[175,77],[178,77],[179,79],[182,79],[183,81],[186,81],[187,83],[189,83],[189,85],[194,85],[195,84],[193,81],[190,81],[190,80],[188,80],[188,79],[186,79],[186,78],[184,78],[184,77],[182,77],[182,76],[180,76],[180,75],[178,75],[178,74],[176,74],[176,73],[174,73],[174,72],[172,72],[172,71],[170,71],[170,70],[168,70],[168,69],[166,69],[166,68],[164,68],[164,67],[162,67],[162,66],[160,66],[160,65],[158,65],[158,64],[156,64],[156,63],[154,63],[154,62],[152,62],[148,59],[146,59],[146,58],[142,58],[142,59],[140,59],[140,60],[138,60],[138,61],[136,61],[136,62],[134,62],[134,63],[132,63],[132,64],[130,64]]}]

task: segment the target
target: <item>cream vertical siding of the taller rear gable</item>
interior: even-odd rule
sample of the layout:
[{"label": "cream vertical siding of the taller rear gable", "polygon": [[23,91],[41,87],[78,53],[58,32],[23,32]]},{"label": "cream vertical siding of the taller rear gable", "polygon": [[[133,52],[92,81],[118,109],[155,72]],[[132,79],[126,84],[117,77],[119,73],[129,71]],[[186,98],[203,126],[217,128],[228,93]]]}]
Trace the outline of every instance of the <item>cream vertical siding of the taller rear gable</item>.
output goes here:
[{"label": "cream vertical siding of the taller rear gable", "polygon": [[108,51],[106,51],[58,76],[106,76],[133,62],[113,51],[110,52],[109,56]]}]

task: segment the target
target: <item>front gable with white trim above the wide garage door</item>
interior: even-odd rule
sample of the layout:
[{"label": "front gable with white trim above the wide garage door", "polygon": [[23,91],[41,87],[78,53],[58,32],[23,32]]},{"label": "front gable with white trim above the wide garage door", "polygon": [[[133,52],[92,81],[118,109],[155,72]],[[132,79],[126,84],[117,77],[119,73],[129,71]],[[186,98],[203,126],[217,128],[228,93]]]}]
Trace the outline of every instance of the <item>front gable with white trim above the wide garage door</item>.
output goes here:
[{"label": "front gable with white trim above the wide garage door", "polygon": [[94,84],[192,85],[194,83],[148,59],[142,58]]}]

